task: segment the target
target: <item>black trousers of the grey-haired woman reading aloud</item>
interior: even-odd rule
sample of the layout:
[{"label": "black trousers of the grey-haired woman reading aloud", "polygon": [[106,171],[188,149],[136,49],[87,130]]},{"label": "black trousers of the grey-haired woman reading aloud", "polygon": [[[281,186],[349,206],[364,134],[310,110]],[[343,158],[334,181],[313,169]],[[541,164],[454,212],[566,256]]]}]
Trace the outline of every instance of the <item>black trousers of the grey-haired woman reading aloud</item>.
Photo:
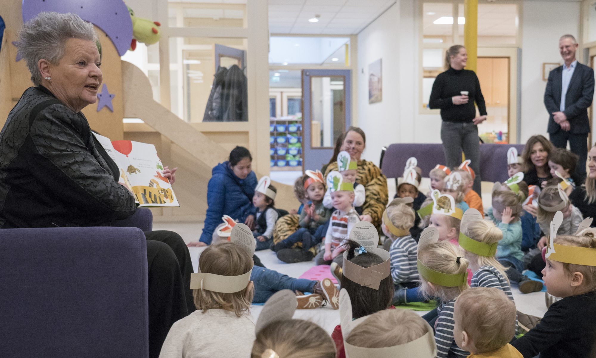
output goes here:
[{"label": "black trousers of the grey-haired woman reading aloud", "polygon": [[158,358],[173,323],[195,310],[193,263],[179,234],[145,232],[149,273],[149,357]]}]

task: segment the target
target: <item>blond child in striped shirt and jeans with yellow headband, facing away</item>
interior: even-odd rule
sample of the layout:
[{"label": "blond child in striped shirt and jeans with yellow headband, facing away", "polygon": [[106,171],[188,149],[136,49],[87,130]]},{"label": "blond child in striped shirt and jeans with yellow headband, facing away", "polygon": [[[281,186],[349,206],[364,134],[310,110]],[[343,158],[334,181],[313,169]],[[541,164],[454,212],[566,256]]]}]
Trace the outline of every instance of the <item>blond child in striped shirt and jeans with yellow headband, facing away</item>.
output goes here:
[{"label": "blond child in striped shirt and jeans with yellow headband, facing away", "polygon": [[[411,200],[411,198],[408,199]],[[396,200],[398,199],[394,202]],[[418,269],[416,268],[418,243],[409,233],[409,229],[414,225],[414,215],[414,210],[403,202],[387,206],[383,213],[381,229],[391,243],[389,246],[391,277],[395,285],[391,304],[394,305],[424,301],[423,297],[418,296]]]}]

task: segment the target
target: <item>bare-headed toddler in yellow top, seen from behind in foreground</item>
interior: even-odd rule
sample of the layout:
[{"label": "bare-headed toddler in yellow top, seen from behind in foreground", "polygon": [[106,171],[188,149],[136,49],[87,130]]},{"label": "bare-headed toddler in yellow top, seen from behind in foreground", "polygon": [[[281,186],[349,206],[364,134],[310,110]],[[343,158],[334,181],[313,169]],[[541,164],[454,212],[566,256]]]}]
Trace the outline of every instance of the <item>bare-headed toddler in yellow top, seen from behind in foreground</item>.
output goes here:
[{"label": "bare-headed toddler in yellow top, seen from behind in foreground", "polygon": [[477,358],[523,358],[509,342],[517,319],[516,305],[496,288],[471,288],[454,307],[455,342]]}]

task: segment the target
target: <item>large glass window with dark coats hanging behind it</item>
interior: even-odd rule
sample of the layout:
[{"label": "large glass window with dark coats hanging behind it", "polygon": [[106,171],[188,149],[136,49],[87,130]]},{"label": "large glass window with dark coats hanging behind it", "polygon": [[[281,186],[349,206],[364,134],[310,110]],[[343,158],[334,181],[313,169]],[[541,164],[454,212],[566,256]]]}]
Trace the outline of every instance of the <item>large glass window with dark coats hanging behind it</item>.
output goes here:
[{"label": "large glass window with dark coats hanging behind it", "polygon": [[246,39],[170,38],[172,112],[187,122],[246,121],[245,49]]}]

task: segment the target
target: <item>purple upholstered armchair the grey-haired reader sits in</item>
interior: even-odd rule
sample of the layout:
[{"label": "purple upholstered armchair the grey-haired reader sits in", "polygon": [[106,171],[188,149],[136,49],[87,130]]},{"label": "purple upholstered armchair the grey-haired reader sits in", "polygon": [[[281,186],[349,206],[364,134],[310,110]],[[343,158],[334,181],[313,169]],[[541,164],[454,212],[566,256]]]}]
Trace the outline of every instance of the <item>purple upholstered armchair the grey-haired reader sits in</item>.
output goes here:
[{"label": "purple upholstered armchair the grey-haired reader sits in", "polygon": [[151,211],[117,224],[0,230],[0,357],[148,357]]}]

